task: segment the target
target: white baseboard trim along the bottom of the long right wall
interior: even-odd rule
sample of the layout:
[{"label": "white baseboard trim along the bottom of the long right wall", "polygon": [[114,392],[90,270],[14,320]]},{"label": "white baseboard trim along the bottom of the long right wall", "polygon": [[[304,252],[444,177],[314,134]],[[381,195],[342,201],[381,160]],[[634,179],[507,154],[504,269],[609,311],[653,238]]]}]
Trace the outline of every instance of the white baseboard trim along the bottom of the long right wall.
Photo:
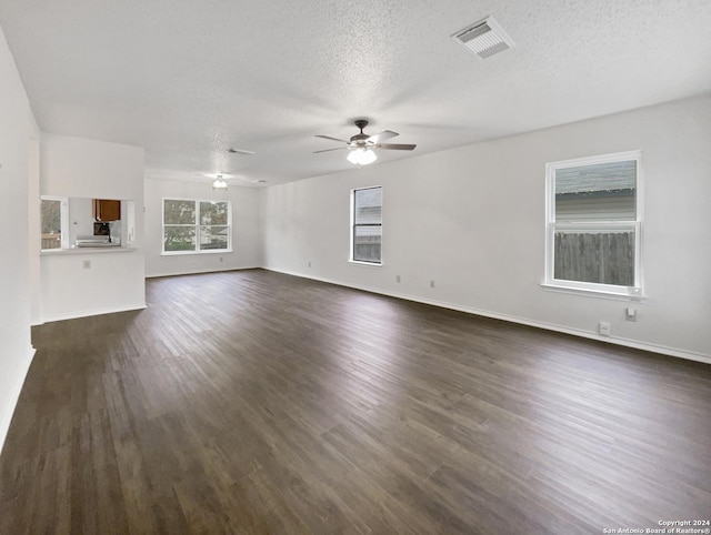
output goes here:
[{"label": "white baseboard trim along the bottom of the long right wall", "polygon": [[669,356],[675,356],[679,359],[685,359],[689,361],[695,361],[695,362],[702,362],[704,364],[711,364],[711,354],[704,354],[704,353],[697,353],[693,351],[685,351],[685,350],[679,350],[677,347],[668,347],[664,345],[658,345],[658,344],[650,344],[647,342],[640,342],[637,340],[630,340],[630,339],[623,339],[623,337],[617,337],[617,336],[601,336],[600,334],[593,332],[593,331],[584,331],[581,329],[572,329],[572,327],[568,327],[564,325],[557,325],[553,323],[545,323],[545,322],[539,322],[539,321],[534,321],[534,320],[529,320],[525,317],[518,317],[518,316],[512,316],[512,315],[508,315],[508,314],[500,314],[498,312],[490,312],[487,310],[481,310],[481,309],[474,309],[471,306],[463,306],[463,305],[459,305],[459,304],[454,304],[454,303],[448,303],[444,301],[437,301],[437,300],[431,300],[431,299],[424,299],[424,297],[419,297],[419,296],[414,296],[414,295],[408,295],[408,294],[403,294],[403,293],[397,293],[397,292],[387,292],[383,290],[379,290],[379,289],[373,289],[373,287],[368,287],[368,286],[362,286],[359,284],[346,284],[343,282],[340,281],[334,281],[334,280],[330,280],[330,279],[323,279],[323,277],[319,277],[319,276],[312,276],[312,275],[304,275],[303,273],[297,273],[297,272],[291,272],[291,271],[286,271],[286,270],[277,270],[273,268],[262,268],[263,270],[267,271],[273,271],[277,273],[283,273],[286,275],[293,275],[293,276],[299,276],[302,279],[310,279],[313,281],[319,281],[319,282],[326,282],[328,284],[336,284],[338,286],[344,286],[344,287],[352,287],[354,290],[362,290],[363,292],[370,292],[370,293],[377,293],[380,295],[387,295],[389,297],[397,297],[397,299],[402,299],[405,301],[413,301],[415,303],[422,303],[422,304],[429,304],[429,305],[433,305],[433,306],[440,306],[442,309],[449,309],[449,310],[455,310],[459,312],[465,312],[468,314],[473,314],[473,315],[479,315],[479,316],[483,316],[483,317],[491,317],[493,320],[502,320],[502,321],[507,321],[507,322],[511,322],[511,323],[518,323],[520,325],[527,325],[527,326],[531,326],[531,327],[537,327],[537,329],[543,329],[545,331],[553,331],[553,332],[558,332],[558,333],[563,333],[563,334],[570,334],[572,336],[580,336],[583,339],[589,339],[589,340],[594,340],[597,342],[604,342],[608,344],[613,344],[613,345],[621,345],[624,347],[631,347],[634,350],[642,350],[642,351],[649,351],[651,353],[659,353],[662,355],[669,355]]}]

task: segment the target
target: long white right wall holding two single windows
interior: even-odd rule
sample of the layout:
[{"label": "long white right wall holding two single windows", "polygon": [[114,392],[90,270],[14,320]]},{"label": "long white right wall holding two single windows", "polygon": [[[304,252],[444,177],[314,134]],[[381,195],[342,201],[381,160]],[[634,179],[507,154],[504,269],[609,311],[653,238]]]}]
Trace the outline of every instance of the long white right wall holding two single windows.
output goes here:
[{"label": "long white right wall holding two single windows", "polygon": [[[608,341],[711,362],[710,139],[707,97],[272,186],[264,266],[590,337],[604,320]],[[635,149],[648,299],[543,290],[545,162]],[[367,185],[383,186],[382,268],[347,262]]]}]

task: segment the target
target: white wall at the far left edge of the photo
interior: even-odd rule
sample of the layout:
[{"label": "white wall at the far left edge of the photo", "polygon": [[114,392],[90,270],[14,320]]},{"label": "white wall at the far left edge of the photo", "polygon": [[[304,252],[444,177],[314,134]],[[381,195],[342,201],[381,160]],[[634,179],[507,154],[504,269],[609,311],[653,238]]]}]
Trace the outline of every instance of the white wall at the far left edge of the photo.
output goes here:
[{"label": "white wall at the far left edge of the photo", "polygon": [[28,176],[34,119],[0,29],[0,450],[33,355]]}]

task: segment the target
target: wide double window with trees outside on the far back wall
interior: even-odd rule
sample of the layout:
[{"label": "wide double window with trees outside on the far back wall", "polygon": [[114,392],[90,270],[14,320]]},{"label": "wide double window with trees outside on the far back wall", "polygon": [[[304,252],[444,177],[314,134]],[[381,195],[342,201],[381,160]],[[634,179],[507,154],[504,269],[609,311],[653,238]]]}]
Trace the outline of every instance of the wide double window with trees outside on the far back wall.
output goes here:
[{"label": "wide double window with trees outside on the far back wall", "polygon": [[163,253],[231,251],[229,201],[163,199]]}]

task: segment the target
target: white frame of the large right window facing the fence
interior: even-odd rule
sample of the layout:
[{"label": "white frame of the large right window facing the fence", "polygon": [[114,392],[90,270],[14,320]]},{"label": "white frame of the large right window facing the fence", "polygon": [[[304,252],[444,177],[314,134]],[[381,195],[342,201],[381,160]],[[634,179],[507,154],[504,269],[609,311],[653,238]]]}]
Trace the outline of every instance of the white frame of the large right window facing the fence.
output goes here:
[{"label": "white frame of the large right window facing the fence", "polygon": [[[633,221],[555,221],[555,171],[567,168],[579,168],[594,165],[598,163],[613,163],[620,161],[637,162],[635,180],[635,220]],[[608,295],[624,299],[643,297],[642,284],[642,221],[643,221],[643,180],[642,180],[642,152],[628,151],[613,154],[602,154],[598,157],[578,158],[560,162],[549,162],[545,164],[545,273],[543,287],[552,290],[563,290],[589,294]],[[600,284],[593,282],[568,281],[554,277],[554,251],[555,231],[577,230],[610,230],[634,232],[634,284],[632,286],[621,286],[615,284]]]}]

